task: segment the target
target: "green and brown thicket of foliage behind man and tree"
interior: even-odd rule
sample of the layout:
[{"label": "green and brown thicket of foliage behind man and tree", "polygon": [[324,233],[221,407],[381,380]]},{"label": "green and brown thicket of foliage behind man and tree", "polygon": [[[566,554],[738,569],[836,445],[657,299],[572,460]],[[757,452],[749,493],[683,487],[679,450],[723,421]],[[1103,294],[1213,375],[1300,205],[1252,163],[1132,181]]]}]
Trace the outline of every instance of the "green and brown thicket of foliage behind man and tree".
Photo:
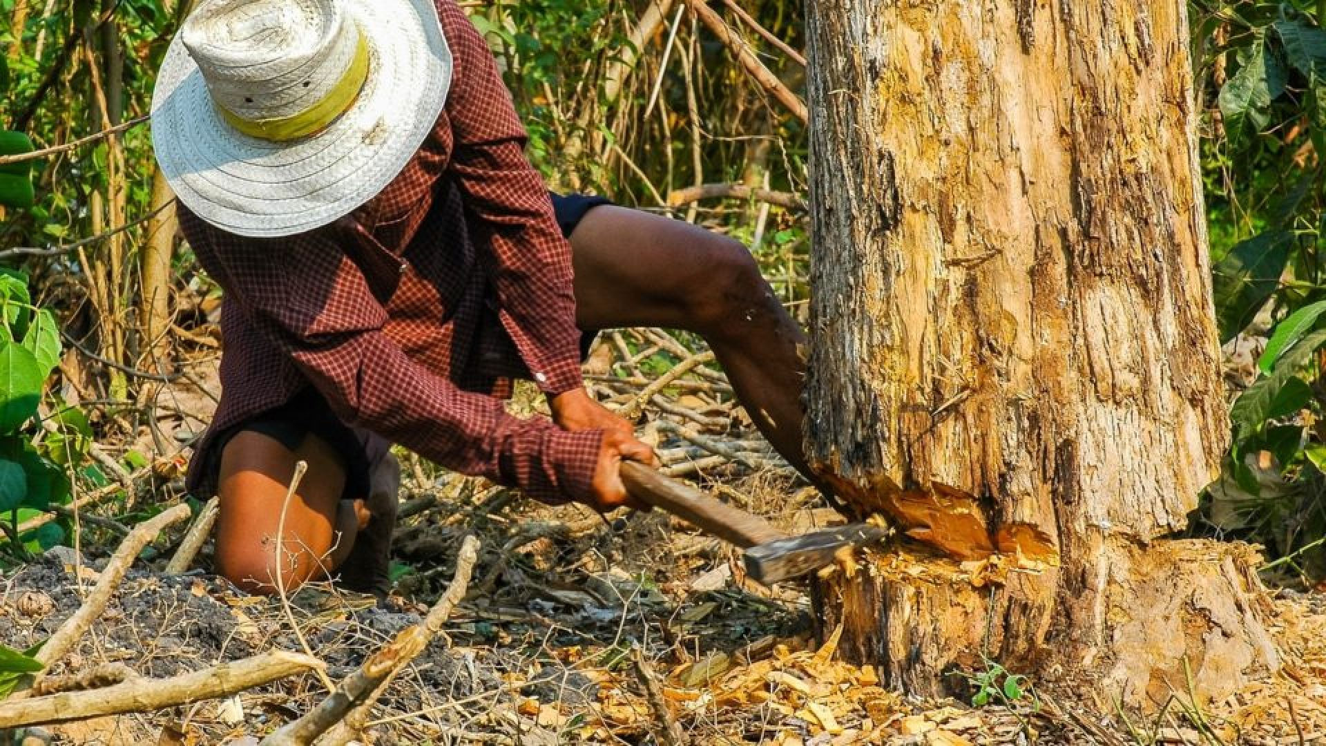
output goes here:
[{"label": "green and brown thicket of foliage behind man and tree", "polygon": [[[553,188],[606,194],[745,242],[800,315],[809,252],[796,207],[805,192],[804,123],[687,3],[463,5],[503,65],[530,158]],[[743,0],[758,29],[737,7],[711,4],[800,93],[804,66],[768,37],[801,49],[801,4]],[[1236,435],[1195,530],[1261,542],[1269,569],[1315,581],[1326,572],[1326,354],[1318,349],[1326,340],[1326,1],[1191,0],[1189,11]],[[180,13],[175,0],[0,0],[0,129],[25,133],[40,149],[135,122],[149,110]],[[133,442],[150,425],[142,402],[152,386],[179,374],[183,360],[215,354],[198,329],[215,312],[216,288],[175,242],[149,126],[37,161],[33,206],[0,212],[0,263],[30,275],[32,299],[58,316],[77,353],[66,352],[48,380],[38,421],[78,411],[80,426],[103,445]],[[686,191],[700,185],[766,190],[792,207]],[[50,427],[29,430],[38,450],[60,442],[44,434]],[[159,438],[155,445],[158,455],[171,451]],[[110,453],[121,469],[142,467],[131,447]],[[94,458],[101,466],[89,467],[76,455],[64,463],[76,491],[103,488],[111,465]]]}]

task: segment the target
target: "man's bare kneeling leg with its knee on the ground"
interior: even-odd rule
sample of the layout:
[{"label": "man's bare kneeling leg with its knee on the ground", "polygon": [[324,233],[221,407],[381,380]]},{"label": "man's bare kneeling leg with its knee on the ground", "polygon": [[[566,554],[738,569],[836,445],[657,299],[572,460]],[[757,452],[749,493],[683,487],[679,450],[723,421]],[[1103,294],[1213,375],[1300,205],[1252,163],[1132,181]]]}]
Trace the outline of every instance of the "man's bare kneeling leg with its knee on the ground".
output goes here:
[{"label": "man's bare kneeling leg with its knee on the ground", "polygon": [[[294,465],[300,461],[309,469],[289,504],[285,504]],[[306,580],[329,577],[342,565],[349,572],[350,564],[354,564],[353,569],[362,575],[361,564],[378,561],[367,555],[385,555],[374,539],[381,539],[378,534],[383,524],[390,531],[395,518],[394,504],[390,516],[371,512],[382,502],[377,494],[385,491],[379,490],[379,482],[385,485],[390,477],[389,467],[396,467],[394,458],[389,457],[375,470],[374,496],[367,503],[342,500],[345,465],[339,454],[317,435],[308,435],[292,451],[259,433],[236,434],[221,453],[217,571],[251,593],[274,593],[277,571],[284,573],[286,591]],[[399,467],[394,483],[399,483]],[[392,490],[392,502],[395,496]],[[285,534],[278,552],[276,536],[282,506]],[[381,506],[377,507],[381,510]],[[358,542],[358,551],[351,558],[355,540],[361,538],[363,540]],[[373,564],[367,569],[378,568]]]}]

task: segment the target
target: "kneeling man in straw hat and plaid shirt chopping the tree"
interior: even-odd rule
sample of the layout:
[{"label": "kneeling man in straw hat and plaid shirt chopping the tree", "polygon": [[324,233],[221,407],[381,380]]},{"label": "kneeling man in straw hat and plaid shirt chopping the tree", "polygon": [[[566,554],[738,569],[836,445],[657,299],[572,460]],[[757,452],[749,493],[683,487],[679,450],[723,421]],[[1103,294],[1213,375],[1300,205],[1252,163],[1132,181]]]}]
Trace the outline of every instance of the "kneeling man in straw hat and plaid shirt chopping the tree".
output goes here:
[{"label": "kneeling man in straw hat and plaid shirt chopping the tree", "polygon": [[[204,1],[152,117],[180,226],[225,291],[223,396],[188,485],[219,494],[216,564],[240,587],[381,581],[390,443],[545,502],[634,504],[618,465],[654,455],[579,373],[605,328],[703,335],[806,471],[802,336],[749,254],[550,199],[453,0]],[[538,385],[552,421],[504,411],[513,377]]]}]

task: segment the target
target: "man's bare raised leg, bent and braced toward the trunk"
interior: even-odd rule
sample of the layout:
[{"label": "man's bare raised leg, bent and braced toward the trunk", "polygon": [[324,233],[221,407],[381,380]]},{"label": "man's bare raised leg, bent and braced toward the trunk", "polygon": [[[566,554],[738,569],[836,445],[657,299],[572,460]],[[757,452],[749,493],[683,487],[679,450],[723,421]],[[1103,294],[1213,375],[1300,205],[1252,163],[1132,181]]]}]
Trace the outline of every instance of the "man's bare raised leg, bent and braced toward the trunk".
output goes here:
[{"label": "man's bare raised leg, bent and braced toward the trunk", "polygon": [[709,342],[760,431],[812,482],[801,445],[805,335],[740,243],[603,206],[572,234],[582,329],[667,327]]}]

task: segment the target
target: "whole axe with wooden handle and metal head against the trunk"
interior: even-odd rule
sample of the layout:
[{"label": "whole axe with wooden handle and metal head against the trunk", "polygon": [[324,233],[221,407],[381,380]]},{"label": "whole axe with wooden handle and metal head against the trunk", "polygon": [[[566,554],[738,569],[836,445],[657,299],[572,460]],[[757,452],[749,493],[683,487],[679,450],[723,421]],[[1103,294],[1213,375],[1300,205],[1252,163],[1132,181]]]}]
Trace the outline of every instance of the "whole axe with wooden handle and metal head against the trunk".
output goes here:
[{"label": "whole axe with wooden handle and metal head against the trunk", "polygon": [[622,462],[622,483],[631,496],[745,550],[741,559],[747,575],[766,585],[827,567],[843,547],[873,544],[888,535],[883,528],[853,523],[789,536],[758,515],[719,502],[634,461]]}]

